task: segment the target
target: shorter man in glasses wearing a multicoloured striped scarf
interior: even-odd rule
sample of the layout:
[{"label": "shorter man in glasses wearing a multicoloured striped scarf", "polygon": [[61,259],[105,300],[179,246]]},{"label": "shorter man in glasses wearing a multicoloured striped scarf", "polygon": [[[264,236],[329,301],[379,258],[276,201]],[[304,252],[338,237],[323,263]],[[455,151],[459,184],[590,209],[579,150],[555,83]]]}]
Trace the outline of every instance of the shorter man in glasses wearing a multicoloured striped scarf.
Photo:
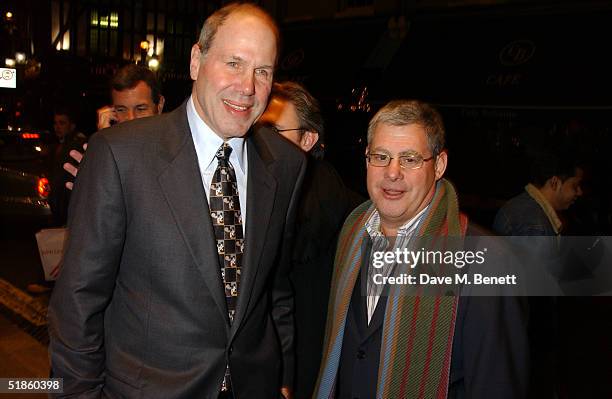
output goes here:
[{"label": "shorter man in glasses wearing a multicoloured striped scarf", "polygon": [[439,248],[479,233],[442,178],[447,160],[442,119],[429,105],[393,101],[370,121],[371,201],[338,240],[317,398],[524,397],[519,298],[406,295],[373,278],[396,266],[375,269],[379,251]]}]

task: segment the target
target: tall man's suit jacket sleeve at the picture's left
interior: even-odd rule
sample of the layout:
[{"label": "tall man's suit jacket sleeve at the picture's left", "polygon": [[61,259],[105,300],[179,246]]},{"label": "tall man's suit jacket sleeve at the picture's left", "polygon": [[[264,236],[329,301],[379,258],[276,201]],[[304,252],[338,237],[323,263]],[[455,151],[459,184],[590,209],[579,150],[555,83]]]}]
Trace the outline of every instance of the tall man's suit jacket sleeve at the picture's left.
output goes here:
[{"label": "tall man's suit jacket sleeve at the picture's left", "polygon": [[104,313],[125,240],[126,210],[107,139],[90,141],[69,208],[64,263],[49,304],[51,375],[62,397],[97,398],[105,380]]}]

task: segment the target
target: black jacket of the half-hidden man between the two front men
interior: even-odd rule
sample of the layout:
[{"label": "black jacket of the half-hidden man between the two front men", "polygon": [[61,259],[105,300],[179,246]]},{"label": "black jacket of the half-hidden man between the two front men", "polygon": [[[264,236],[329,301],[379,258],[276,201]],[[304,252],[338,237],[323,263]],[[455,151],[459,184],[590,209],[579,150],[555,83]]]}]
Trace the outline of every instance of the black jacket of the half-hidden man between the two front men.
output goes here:
[{"label": "black jacket of the half-hidden man between the two front men", "polygon": [[290,274],[295,290],[296,399],[312,397],[321,364],[338,233],[344,219],[363,200],[344,185],[331,164],[308,159]]}]

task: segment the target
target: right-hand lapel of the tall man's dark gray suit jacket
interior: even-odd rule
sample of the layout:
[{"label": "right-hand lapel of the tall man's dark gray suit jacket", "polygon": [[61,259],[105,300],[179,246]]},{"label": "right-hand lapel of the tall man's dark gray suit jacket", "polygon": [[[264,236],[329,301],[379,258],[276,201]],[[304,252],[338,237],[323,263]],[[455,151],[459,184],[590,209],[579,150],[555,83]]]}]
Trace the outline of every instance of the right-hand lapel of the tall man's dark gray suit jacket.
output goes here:
[{"label": "right-hand lapel of the tall man's dark gray suit jacket", "polygon": [[259,272],[260,258],[266,242],[266,230],[274,207],[277,183],[268,169],[273,162],[273,158],[263,146],[265,146],[264,143],[256,145],[255,137],[250,137],[247,140],[249,169],[245,249],[236,316],[231,329],[232,336],[236,333],[248,312],[249,302]]}]

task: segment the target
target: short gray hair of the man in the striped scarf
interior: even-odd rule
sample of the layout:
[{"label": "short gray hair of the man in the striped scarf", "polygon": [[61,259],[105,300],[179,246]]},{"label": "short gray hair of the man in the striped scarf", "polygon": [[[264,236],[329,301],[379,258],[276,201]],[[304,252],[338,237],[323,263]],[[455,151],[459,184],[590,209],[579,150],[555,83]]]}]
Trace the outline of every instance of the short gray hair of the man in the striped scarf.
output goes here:
[{"label": "short gray hair of the man in the striped scarf", "polygon": [[394,100],[382,107],[368,125],[368,145],[379,124],[391,126],[419,125],[427,134],[433,156],[444,150],[445,130],[442,116],[431,105],[418,100]]}]

